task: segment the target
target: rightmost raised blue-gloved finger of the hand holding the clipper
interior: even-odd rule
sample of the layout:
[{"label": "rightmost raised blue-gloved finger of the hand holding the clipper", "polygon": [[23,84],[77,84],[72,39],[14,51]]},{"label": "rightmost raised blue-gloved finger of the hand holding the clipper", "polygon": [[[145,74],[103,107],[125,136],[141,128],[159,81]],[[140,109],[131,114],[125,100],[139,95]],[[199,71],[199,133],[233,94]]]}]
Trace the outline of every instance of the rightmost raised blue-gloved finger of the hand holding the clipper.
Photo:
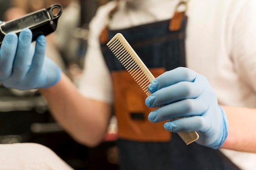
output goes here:
[{"label": "rightmost raised blue-gloved finger of the hand holding the clipper", "polygon": [[[34,56],[31,62],[30,70],[27,74],[28,77],[30,77],[31,82],[30,83],[36,83],[33,80],[35,80],[35,75],[40,75],[43,68],[43,63],[45,59],[45,49],[46,49],[46,39],[45,36],[41,35],[36,38],[36,46],[34,48]],[[39,77],[37,77],[39,78]],[[31,85],[32,86],[32,85]]]}]

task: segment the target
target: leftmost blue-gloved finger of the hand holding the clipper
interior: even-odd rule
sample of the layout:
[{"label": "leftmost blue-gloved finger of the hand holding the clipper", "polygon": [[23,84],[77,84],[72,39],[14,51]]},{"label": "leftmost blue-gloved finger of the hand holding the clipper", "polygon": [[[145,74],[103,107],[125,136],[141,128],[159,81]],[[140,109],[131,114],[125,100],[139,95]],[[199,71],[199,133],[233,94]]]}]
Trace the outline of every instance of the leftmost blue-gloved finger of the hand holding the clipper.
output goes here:
[{"label": "leftmost blue-gloved finger of the hand holding the clipper", "polygon": [[0,79],[1,81],[9,78],[12,74],[13,61],[18,46],[18,36],[10,32],[2,41],[0,49]]}]

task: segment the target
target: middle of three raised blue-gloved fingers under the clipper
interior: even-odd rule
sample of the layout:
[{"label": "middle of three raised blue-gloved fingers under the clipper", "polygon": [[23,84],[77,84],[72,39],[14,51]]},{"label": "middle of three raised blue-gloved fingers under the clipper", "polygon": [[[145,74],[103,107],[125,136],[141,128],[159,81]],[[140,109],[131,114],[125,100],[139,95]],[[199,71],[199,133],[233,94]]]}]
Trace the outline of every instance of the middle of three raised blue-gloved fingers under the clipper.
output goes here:
[{"label": "middle of three raised blue-gloved fingers under the clipper", "polygon": [[25,28],[20,32],[18,47],[13,63],[13,79],[19,80],[26,76],[31,63],[29,63],[29,49],[32,40],[32,32]]}]

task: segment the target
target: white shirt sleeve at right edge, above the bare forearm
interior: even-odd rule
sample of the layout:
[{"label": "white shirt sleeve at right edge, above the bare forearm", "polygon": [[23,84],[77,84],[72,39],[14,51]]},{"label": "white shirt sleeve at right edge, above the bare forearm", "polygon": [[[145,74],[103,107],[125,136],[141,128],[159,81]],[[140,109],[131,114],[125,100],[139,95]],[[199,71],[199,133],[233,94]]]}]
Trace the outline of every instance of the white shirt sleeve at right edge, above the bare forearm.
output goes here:
[{"label": "white shirt sleeve at right edge, above the bare forearm", "polygon": [[247,0],[236,18],[232,60],[234,69],[250,89],[256,92],[256,1]]}]

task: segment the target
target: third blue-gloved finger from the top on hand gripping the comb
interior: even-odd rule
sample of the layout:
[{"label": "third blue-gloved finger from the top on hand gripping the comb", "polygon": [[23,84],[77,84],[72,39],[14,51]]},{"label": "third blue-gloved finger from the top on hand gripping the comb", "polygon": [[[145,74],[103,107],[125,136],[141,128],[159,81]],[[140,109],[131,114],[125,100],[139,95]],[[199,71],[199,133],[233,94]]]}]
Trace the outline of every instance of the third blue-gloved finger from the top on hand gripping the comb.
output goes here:
[{"label": "third blue-gloved finger from the top on hand gripping the comb", "polygon": [[157,123],[182,116],[201,116],[206,109],[197,99],[185,99],[157,108],[150,112],[148,120]]}]

